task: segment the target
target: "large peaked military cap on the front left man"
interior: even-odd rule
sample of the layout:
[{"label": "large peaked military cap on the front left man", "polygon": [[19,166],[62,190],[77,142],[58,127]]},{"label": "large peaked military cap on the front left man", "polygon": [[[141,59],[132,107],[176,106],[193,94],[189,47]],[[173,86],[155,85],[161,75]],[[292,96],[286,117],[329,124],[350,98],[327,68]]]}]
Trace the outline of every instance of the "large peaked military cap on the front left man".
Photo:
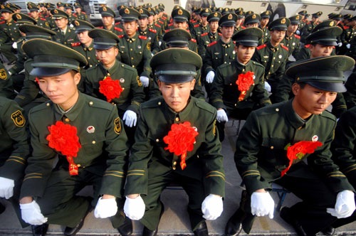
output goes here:
[{"label": "large peaked military cap on the front left man", "polygon": [[67,46],[42,38],[31,39],[22,45],[22,49],[33,58],[30,75],[55,76],[79,71],[88,64],[85,57]]}]

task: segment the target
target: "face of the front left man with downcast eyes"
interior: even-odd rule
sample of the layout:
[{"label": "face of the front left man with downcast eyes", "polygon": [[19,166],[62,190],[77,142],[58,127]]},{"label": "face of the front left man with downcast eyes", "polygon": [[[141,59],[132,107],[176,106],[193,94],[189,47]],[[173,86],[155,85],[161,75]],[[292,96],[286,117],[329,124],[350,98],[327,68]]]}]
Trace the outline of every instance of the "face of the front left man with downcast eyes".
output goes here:
[{"label": "face of the front left man with downcast eyes", "polygon": [[77,85],[80,81],[80,73],[72,71],[63,75],[38,77],[38,84],[42,92],[59,104],[63,109],[69,109],[78,100]]}]

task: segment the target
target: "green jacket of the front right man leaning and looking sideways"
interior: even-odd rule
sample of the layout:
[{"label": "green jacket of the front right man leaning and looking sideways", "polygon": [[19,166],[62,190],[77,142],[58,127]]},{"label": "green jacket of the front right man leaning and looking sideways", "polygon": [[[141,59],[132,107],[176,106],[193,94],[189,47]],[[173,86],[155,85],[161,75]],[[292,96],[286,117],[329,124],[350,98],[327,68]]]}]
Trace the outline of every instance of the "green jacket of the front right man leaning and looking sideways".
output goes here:
[{"label": "green jacket of the front right man leaning and looking sideways", "polygon": [[288,166],[287,144],[318,139],[323,146],[306,154],[308,166],[315,175],[300,171],[303,159],[296,159],[286,175],[301,178],[322,178],[335,193],[352,190],[347,178],[331,159],[330,144],[334,139],[336,119],[323,112],[303,122],[295,114],[292,101],[273,104],[251,112],[236,141],[235,162],[240,176],[251,195],[261,188],[271,189],[271,181],[281,178]]}]

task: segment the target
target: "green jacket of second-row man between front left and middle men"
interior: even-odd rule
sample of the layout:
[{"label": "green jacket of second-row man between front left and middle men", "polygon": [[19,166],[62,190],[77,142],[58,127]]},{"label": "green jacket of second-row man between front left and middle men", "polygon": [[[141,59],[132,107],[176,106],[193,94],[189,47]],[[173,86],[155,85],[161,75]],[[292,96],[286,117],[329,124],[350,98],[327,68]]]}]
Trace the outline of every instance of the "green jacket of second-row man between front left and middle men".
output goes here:
[{"label": "green jacket of second-row man between front left and middle men", "polygon": [[89,68],[86,72],[85,93],[106,101],[106,97],[99,92],[99,81],[103,80],[104,77],[111,77],[112,80],[120,81],[123,91],[119,98],[112,100],[117,105],[119,114],[123,114],[127,109],[138,113],[140,104],[144,101],[145,93],[143,92],[140,77],[137,76],[137,71],[117,60],[109,70],[104,68],[102,63],[99,63],[95,67]]}]

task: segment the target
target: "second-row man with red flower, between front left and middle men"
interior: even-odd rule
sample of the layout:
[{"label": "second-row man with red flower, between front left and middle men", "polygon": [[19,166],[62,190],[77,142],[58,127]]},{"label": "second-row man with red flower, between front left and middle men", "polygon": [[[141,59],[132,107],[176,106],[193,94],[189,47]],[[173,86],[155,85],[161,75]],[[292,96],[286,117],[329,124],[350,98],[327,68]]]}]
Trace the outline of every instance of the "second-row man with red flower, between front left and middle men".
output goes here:
[{"label": "second-row man with red flower, between front left and middle men", "polygon": [[[87,70],[85,93],[116,104],[120,118],[125,120],[125,131],[132,144],[138,109],[145,98],[142,82],[135,68],[116,59],[120,40],[115,33],[96,28],[89,31],[89,36],[94,39],[94,48],[100,63]],[[107,96],[105,87],[102,88],[100,84],[109,77],[110,80],[117,81],[118,85],[115,85],[115,94]]]}]

